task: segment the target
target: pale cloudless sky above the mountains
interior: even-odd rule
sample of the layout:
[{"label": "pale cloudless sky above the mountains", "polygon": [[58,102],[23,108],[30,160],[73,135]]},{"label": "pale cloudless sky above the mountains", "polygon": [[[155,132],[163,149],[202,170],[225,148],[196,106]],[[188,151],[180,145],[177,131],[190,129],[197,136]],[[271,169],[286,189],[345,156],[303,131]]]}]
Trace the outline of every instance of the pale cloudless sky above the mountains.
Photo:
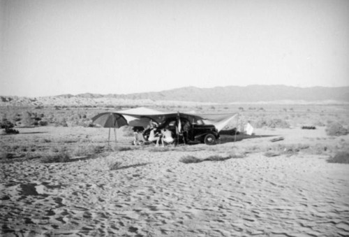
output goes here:
[{"label": "pale cloudless sky above the mountains", "polygon": [[0,0],[0,95],[349,85],[349,1]]}]

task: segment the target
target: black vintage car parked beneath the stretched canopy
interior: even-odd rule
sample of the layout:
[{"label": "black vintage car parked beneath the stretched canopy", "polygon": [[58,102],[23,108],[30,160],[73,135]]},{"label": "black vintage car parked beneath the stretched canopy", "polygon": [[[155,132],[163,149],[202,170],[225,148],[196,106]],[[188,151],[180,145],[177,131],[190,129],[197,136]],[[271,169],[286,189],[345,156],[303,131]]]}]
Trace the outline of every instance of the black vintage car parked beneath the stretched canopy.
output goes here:
[{"label": "black vintage car parked beneath the stretched canopy", "polygon": [[[161,134],[161,129],[170,130],[176,143],[214,145],[219,140],[219,134],[214,125],[203,124],[200,121],[192,123],[186,117],[180,117],[180,122],[181,130],[179,131],[178,117],[168,117],[158,125],[156,131]],[[147,138],[148,136],[149,130],[144,131],[144,137]]]}]

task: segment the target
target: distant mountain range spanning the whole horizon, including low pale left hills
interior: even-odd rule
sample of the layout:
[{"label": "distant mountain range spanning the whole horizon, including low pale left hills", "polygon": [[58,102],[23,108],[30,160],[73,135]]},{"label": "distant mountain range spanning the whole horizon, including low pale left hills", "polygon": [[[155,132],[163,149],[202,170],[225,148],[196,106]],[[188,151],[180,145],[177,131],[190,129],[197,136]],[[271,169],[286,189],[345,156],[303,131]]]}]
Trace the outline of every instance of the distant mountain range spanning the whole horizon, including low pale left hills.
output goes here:
[{"label": "distant mountain range spanning the whole horizon, including low pale left hills", "polygon": [[336,101],[349,102],[349,87],[290,87],[285,85],[249,85],[246,87],[228,86],[214,88],[182,87],[161,92],[144,92],[135,94],[63,94],[26,98],[18,96],[0,96],[0,103],[30,102],[50,104],[50,101],[67,103],[87,103],[109,99],[127,101],[192,101],[202,103],[257,103],[272,101]]}]

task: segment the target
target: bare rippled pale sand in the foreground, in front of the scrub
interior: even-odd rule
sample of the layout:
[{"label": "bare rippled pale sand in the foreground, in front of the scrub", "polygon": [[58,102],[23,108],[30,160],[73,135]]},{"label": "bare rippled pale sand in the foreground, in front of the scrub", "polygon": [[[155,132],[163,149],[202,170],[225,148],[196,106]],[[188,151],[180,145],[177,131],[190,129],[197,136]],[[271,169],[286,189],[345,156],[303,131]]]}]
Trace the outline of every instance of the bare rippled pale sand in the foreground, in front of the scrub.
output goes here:
[{"label": "bare rippled pale sand in the foreground, in front of the scrub", "polygon": [[[64,164],[0,164],[0,234],[349,236],[349,165],[327,163],[333,150],[277,157],[255,151],[306,143],[335,148],[348,136],[327,138],[323,129],[256,134],[209,148],[142,148]],[[271,143],[272,135],[285,140]],[[231,152],[247,156],[179,161]],[[116,161],[119,169],[111,171]]]}]

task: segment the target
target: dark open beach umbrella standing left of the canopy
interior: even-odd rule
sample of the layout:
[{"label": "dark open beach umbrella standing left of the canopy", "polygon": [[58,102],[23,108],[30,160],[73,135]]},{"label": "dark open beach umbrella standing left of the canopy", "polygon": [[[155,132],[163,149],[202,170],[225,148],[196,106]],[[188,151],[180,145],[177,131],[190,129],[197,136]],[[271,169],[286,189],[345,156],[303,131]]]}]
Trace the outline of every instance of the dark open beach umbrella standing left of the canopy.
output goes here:
[{"label": "dark open beach umbrella standing left of the canopy", "polygon": [[128,122],[123,115],[111,112],[99,113],[98,115],[92,117],[92,122],[99,124],[102,127],[109,128],[108,145],[110,144],[110,129],[114,129],[115,141],[117,141],[117,134],[115,129],[128,125]]}]

